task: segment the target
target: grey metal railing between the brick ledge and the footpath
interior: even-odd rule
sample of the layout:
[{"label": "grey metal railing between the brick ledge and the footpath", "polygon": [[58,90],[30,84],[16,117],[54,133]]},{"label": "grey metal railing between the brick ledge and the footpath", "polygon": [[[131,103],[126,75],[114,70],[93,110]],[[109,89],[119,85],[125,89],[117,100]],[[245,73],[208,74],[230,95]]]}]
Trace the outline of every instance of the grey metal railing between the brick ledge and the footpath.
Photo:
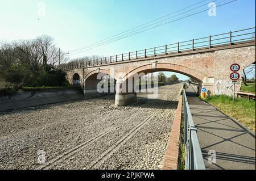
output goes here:
[{"label": "grey metal railing between the brick ledge and the footpath", "polygon": [[205,170],[203,154],[197,137],[187,95],[183,89],[185,167],[187,170]]}]

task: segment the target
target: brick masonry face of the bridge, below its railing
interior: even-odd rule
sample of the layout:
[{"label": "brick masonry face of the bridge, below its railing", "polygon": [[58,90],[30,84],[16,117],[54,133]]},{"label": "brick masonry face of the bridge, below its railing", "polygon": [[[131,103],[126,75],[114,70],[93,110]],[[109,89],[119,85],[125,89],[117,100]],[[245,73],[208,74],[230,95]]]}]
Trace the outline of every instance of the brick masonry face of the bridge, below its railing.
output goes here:
[{"label": "brick masonry face of the bridge, below its railing", "polygon": [[[239,47],[240,46],[240,47]],[[115,80],[127,78],[128,74],[151,73],[155,71],[174,71],[188,75],[200,82],[207,90],[214,94],[232,95],[232,81],[229,78],[230,65],[238,63],[242,69],[255,62],[255,44],[235,45],[219,49],[209,49],[205,52],[180,53],[175,56],[156,56],[143,58],[142,60],[130,60],[123,62],[113,62],[112,64],[102,64],[86,67],[84,69],[67,70],[67,79],[72,83],[73,75],[80,75],[81,87],[86,89],[90,85],[91,76],[98,73],[110,74]],[[113,74],[112,74],[113,73]],[[236,90],[241,87],[240,78],[236,85]],[[85,82],[85,83],[84,83]],[[91,82],[92,83],[92,82]],[[89,86],[89,88],[91,88]],[[92,87],[96,89],[96,87]]]}]

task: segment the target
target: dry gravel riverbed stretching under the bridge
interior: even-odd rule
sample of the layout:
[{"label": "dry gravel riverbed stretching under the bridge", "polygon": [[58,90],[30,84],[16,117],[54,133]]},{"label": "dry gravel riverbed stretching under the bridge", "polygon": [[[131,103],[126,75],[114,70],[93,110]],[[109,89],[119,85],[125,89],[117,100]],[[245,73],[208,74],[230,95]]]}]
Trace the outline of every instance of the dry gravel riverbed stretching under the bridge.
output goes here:
[{"label": "dry gravel riverbed stretching under the bridge", "polygon": [[182,86],[127,107],[112,95],[0,113],[0,169],[162,169]]}]

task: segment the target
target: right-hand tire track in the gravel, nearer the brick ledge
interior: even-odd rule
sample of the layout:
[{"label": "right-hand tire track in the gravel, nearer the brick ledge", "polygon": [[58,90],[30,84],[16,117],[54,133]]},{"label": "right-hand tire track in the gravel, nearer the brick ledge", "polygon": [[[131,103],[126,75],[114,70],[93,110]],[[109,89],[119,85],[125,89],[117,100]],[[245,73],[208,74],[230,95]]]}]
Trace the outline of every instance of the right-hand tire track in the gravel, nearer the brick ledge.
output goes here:
[{"label": "right-hand tire track in the gravel, nearer the brick ledge", "polygon": [[130,140],[131,137],[134,136],[135,133],[137,133],[148,121],[150,121],[156,113],[153,113],[152,115],[148,116],[142,123],[138,124],[136,127],[131,129],[125,136],[121,137],[118,139],[117,142],[114,142],[114,144],[111,144],[112,146],[105,150],[101,155],[99,155],[96,159],[94,159],[89,166],[84,167],[84,169],[89,170],[89,169],[97,169],[98,166],[102,165],[108,159],[111,157],[115,151],[117,151],[123,144],[126,143],[126,141]]}]

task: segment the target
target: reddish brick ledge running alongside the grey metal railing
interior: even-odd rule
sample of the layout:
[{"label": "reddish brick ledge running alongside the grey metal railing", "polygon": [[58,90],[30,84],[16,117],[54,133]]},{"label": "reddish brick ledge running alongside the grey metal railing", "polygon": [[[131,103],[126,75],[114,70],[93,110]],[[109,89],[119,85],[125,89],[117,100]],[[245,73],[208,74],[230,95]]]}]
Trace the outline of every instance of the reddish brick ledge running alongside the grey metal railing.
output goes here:
[{"label": "reddish brick ledge running alongside the grey metal railing", "polygon": [[177,162],[179,157],[181,111],[182,96],[180,96],[179,98],[176,115],[174,117],[174,123],[172,124],[167,151],[166,155],[164,156],[163,170],[177,170]]}]

